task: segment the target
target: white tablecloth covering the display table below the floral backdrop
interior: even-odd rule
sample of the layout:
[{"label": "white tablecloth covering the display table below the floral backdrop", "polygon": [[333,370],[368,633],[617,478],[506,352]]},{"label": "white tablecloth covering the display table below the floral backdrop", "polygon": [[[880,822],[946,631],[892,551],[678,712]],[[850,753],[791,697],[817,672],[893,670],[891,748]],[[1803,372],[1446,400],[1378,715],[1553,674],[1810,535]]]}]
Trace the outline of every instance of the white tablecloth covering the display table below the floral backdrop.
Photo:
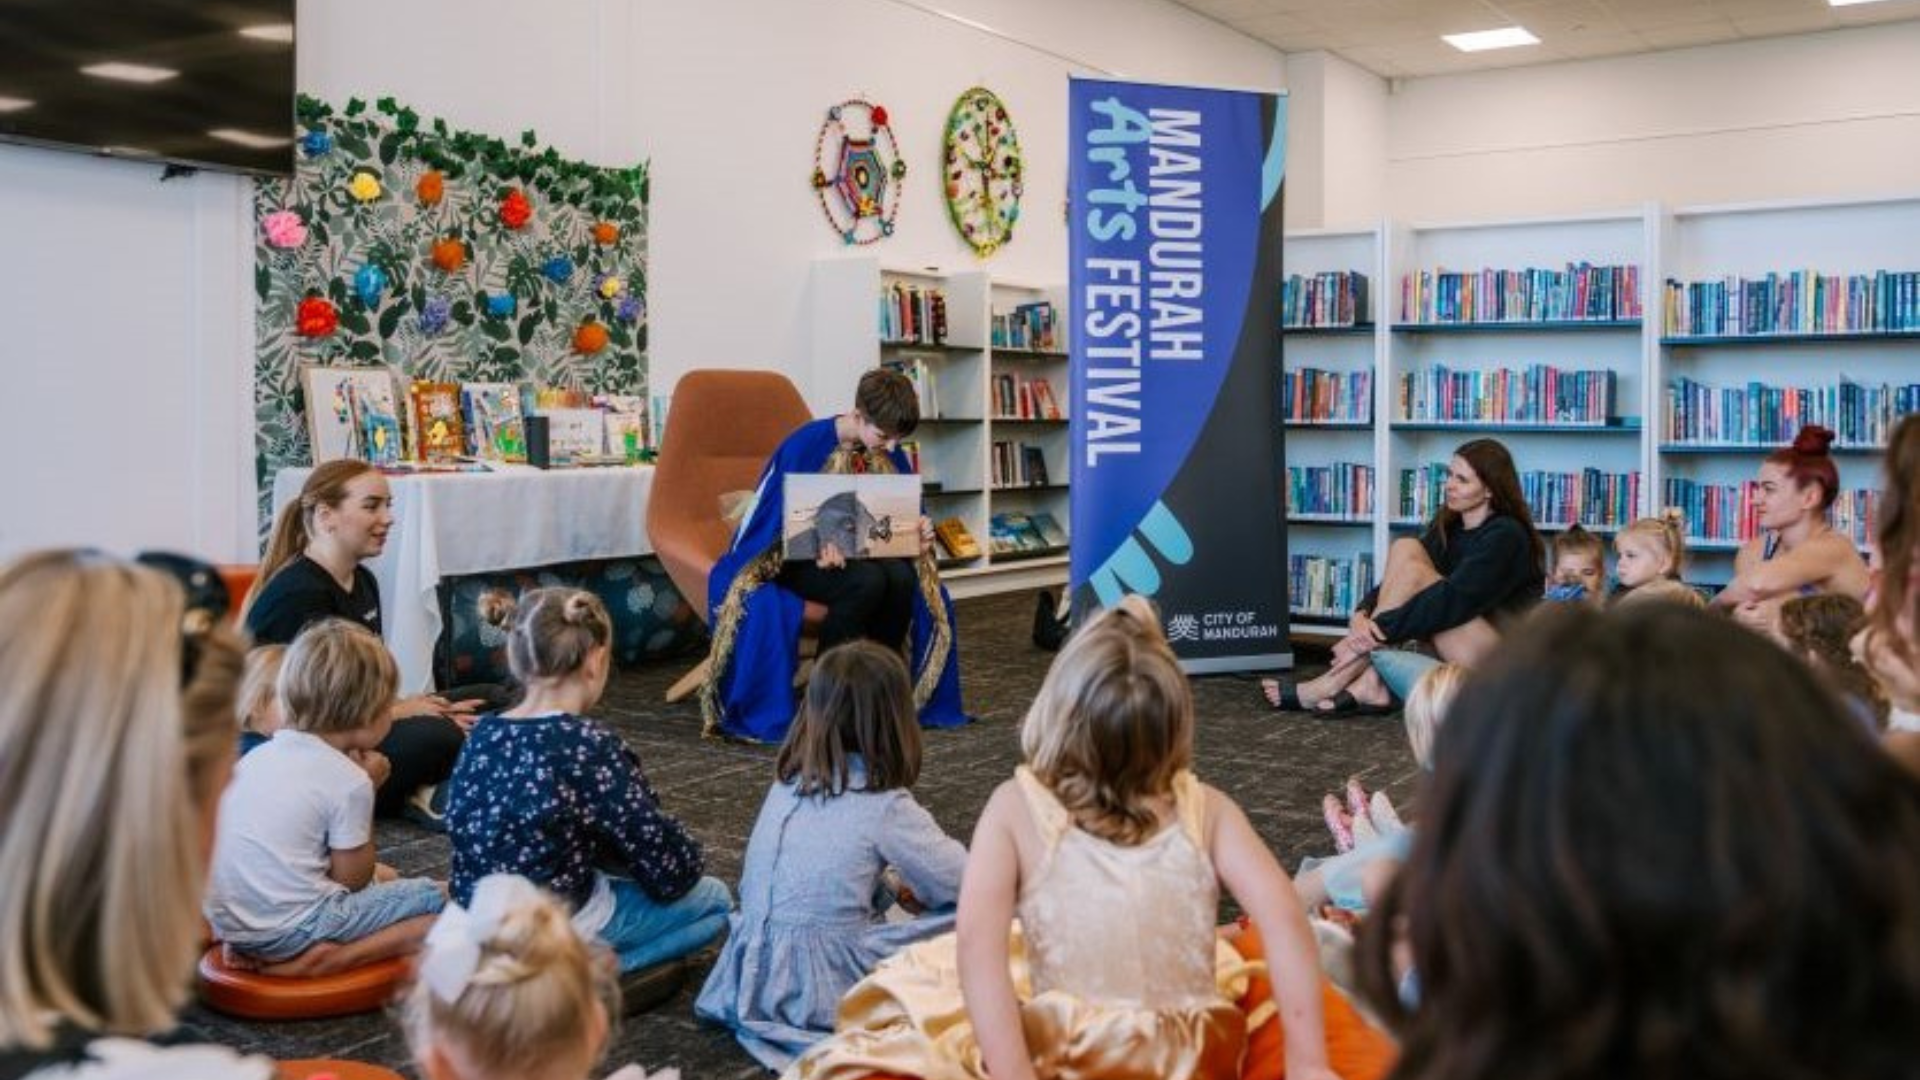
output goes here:
[{"label": "white tablecloth covering the display table below the floral backdrop", "polygon": [[[367,569],[380,582],[380,625],[399,661],[401,694],[432,690],[442,578],[582,559],[649,555],[651,465],[388,477],[394,528]],[[273,479],[275,515],[313,469]]]}]

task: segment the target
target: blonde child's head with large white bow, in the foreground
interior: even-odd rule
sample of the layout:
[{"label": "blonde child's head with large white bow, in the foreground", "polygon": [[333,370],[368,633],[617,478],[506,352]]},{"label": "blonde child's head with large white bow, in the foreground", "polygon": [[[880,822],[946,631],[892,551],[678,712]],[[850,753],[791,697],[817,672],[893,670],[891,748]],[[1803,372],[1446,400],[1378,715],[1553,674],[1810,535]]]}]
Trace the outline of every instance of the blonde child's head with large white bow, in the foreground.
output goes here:
[{"label": "blonde child's head with large white bow, in the foreground", "polygon": [[[426,1080],[586,1080],[620,1013],[612,965],[566,907],[526,878],[490,874],[426,936],[405,1003]],[[678,1080],[678,1070],[651,1080]],[[649,1080],[639,1067],[609,1080]]]}]

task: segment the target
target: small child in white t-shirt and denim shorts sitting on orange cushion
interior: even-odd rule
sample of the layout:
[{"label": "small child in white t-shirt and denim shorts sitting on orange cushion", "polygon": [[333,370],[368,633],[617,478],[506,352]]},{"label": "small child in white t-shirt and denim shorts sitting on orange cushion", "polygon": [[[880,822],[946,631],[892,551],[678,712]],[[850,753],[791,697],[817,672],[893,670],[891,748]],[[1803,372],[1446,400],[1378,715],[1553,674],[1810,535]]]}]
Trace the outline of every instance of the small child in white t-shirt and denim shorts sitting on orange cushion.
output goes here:
[{"label": "small child in white t-shirt and denim shorts sitting on orange cushion", "polygon": [[234,769],[221,799],[207,922],[228,963],[328,974],[419,947],[445,892],[374,861],[397,671],[344,619],[301,630],[280,665],[284,726]]}]

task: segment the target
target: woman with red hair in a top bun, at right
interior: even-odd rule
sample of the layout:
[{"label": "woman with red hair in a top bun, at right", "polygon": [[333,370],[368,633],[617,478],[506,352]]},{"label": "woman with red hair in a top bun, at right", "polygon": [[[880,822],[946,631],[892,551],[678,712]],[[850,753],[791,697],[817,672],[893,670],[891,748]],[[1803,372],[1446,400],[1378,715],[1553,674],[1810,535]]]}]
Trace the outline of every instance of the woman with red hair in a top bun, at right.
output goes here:
[{"label": "woman with red hair in a top bun, at right", "polygon": [[1866,596],[1866,561],[1826,515],[1839,496],[1830,429],[1809,425],[1761,465],[1761,534],[1734,559],[1734,580],[1713,600],[1740,623],[1772,634],[1793,596]]}]

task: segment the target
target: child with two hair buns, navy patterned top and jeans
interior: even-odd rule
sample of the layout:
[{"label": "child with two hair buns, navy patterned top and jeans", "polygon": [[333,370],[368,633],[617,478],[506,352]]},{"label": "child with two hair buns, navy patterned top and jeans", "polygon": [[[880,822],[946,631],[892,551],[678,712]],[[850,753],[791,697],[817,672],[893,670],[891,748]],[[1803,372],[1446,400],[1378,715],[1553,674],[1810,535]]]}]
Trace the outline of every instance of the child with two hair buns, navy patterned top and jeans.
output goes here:
[{"label": "child with two hair buns, navy patterned top and jeans", "polygon": [[488,874],[522,874],[572,905],[574,928],[620,970],[676,961],[722,928],[733,897],[701,876],[701,846],[660,799],[620,736],[588,719],[607,688],[612,621],[591,592],[536,588],[490,598],[507,628],[518,705],[482,717],[447,780],[453,899]]}]

